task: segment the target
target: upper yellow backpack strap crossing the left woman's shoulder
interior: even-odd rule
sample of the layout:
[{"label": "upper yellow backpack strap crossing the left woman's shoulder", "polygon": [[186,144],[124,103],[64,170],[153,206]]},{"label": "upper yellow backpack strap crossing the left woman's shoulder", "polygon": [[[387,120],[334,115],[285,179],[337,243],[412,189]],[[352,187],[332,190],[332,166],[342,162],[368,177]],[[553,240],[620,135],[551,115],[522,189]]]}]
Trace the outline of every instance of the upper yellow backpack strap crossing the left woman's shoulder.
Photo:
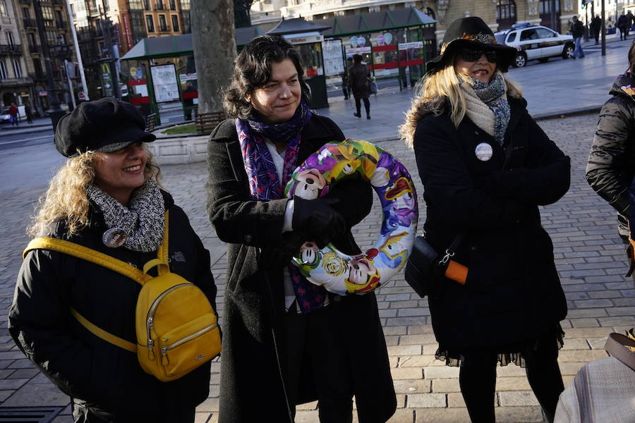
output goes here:
[{"label": "upper yellow backpack strap crossing the left woman's shoulder", "polygon": [[40,237],[31,240],[29,245],[25,248],[22,257],[24,258],[27,252],[30,250],[52,250],[62,252],[67,255],[72,255],[80,259],[84,259],[87,262],[99,264],[107,269],[116,271],[119,274],[128,276],[128,278],[137,281],[141,285],[147,281],[150,276],[144,275],[143,271],[140,271],[135,266],[123,262],[122,260],[111,257],[103,252],[92,250],[92,248],[84,247],[83,245],[71,243],[71,241],[60,240],[58,238]]}]

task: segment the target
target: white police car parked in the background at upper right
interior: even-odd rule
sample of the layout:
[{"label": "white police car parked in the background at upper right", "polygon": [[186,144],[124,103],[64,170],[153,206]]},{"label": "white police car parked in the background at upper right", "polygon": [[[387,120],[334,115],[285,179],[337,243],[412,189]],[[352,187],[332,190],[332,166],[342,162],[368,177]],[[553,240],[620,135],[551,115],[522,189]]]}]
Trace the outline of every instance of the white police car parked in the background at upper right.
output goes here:
[{"label": "white police car parked in the background at upper right", "polygon": [[542,25],[516,23],[509,30],[494,34],[498,44],[505,44],[518,50],[512,66],[522,68],[527,61],[538,60],[545,63],[550,57],[573,57],[575,44],[571,35],[562,35]]}]

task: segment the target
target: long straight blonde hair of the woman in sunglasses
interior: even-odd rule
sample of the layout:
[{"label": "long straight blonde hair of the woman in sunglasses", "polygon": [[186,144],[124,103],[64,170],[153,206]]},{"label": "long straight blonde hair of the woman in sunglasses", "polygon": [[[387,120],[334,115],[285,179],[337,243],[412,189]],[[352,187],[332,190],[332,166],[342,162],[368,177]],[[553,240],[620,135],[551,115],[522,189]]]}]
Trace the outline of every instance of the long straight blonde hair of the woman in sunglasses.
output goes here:
[{"label": "long straight blonde hair of the woman in sunglasses", "polygon": [[[413,137],[417,123],[428,114],[439,116],[449,107],[450,120],[456,128],[465,117],[466,103],[463,90],[460,87],[459,78],[464,78],[454,71],[454,57],[448,61],[448,65],[435,73],[426,73],[417,82],[415,97],[410,109],[406,111],[406,121],[399,126],[399,136],[406,142],[409,148],[413,148]],[[521,98],[521,88],[516,83],[507,79],[502,73],[507,94],[511,97]]]}]

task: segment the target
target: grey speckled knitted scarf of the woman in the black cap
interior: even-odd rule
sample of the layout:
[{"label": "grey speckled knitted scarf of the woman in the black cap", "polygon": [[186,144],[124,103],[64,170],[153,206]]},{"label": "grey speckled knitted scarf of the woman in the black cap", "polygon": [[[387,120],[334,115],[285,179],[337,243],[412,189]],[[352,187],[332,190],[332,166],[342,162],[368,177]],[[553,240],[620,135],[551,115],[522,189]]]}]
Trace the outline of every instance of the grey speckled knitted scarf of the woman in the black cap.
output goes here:
[{"label": "grey speckled knitted scarf of the woman in the black cap", "polygon": [[104,214],[108,228],[121,228],[128,234],[123,247],[140,252],[157,251],[163,240],[165,202],[154,179],[133,191],[128,207],[97,186],[87,188],[88,198]]}]

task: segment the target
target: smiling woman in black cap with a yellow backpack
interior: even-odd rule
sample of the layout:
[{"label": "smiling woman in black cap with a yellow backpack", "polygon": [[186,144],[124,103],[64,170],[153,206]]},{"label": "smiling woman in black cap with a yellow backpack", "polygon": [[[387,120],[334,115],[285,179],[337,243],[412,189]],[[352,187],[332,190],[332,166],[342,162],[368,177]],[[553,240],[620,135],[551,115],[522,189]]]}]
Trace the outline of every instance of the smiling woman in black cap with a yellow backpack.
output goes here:
[{"label": "smiling woman in black cap with a yellow backpack", "polygon": [[[58,123],[57,150],[68,157],[51,180],[30,235],[69,240],[143,269],[157,257],[169,210],[171,271],[198,286],[215,307],[210,254],[183,210],[157,183],[159,168],[145,143],[143,116],[132,104],[105,98],[80,104]],[[121,242],[104,237],[123,231]],[[123,244],[122,244],[123,243]],[[140,284],[83,259],[49,250],[26,255],[8,329],[20,350],[71,396],[81,423],[193,422],[207,399],[210,362],[162,382],[137,355],[98,338],[71,307],[114,336],[136,343]]]}]

